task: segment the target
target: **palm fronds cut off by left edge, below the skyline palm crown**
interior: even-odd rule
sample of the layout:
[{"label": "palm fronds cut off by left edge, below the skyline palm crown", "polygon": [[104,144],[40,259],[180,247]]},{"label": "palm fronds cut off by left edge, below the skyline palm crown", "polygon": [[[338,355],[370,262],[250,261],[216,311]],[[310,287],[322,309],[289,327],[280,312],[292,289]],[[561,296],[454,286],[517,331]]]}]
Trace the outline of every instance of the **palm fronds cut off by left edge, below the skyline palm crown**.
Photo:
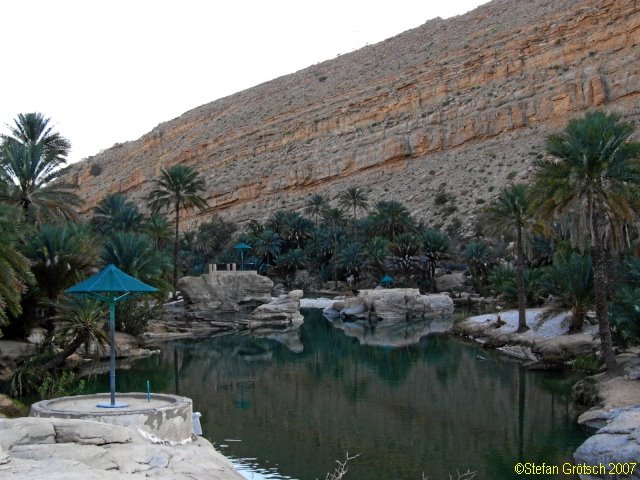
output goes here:
[{"label": "palm fronds cut off by left edge, below the skyline palm crown", "polygon": [[8,321],[7,311],[21,313],[20,299],[31,278],[29,259],[16,248],[22,233],[19,211],[0,204],[0,325]]}]

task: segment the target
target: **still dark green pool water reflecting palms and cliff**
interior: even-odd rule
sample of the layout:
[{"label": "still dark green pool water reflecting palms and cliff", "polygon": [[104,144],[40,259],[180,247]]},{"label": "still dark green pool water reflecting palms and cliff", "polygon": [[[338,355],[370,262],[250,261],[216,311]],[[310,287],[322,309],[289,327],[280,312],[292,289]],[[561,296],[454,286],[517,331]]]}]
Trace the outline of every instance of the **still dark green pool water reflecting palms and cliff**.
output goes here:
[{"label": "still dark green pool water reflecting palms and cliff", "polygon": [[[170,342],[119,371],[117,388],[143,391],[148,379],[155,392],[191,397],[205,437],[255,479],[324,479],[347,452],[359,457],[345,480],[467,469],[514,479],[516,462],[561,465],[586,438],[575,379],[446,336],[360,346],[315,310],[300,337],[301,353],[250,335]],[[95,382],[107,389],[106,376]]]}]

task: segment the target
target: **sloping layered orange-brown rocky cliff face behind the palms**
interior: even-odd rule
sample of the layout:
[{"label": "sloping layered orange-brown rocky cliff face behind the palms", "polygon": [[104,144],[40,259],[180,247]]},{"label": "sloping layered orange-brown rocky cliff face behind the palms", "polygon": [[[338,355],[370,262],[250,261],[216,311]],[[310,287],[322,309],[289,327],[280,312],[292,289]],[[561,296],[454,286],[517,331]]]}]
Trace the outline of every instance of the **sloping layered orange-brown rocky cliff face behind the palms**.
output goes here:
[{"label": "sloping layered orange-brown rocky cliff face behind the palms", "polygon": [[506,182],[528,178],[549,133],[594,108],[640,119],[640,2],[494,0],[196,108],[67,180],[87,212],[115,191],[142,204],[161,168],[190,165],[210,208],[186,228],[353,185],[432,226],[469,225]]}]

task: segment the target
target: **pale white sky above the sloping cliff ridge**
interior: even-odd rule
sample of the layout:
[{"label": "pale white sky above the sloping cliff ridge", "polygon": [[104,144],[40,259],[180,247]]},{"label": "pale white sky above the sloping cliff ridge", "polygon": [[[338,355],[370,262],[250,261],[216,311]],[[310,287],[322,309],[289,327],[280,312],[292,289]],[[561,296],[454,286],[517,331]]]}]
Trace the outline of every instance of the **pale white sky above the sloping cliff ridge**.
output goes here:
[{"label": "pale white sky above the sloping cliff ridge", "polygon": [[487,0],[5,0],[0,131],[42,112],[70,163]]}]

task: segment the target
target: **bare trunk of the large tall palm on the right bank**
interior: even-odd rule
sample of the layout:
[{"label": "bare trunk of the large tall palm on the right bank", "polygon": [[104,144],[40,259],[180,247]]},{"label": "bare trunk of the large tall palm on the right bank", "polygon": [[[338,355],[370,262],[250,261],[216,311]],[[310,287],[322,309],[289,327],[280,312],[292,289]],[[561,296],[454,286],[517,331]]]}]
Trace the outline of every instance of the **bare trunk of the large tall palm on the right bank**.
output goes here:
[{"label": "bare trunk of the large tall palm on the right bank", "polygon": [[616,370],[618,362],[613,353],[611,340],[611,324],[607,311],[607,262],[604,245],[600,237],[599,212],[590,209],[591,220],[591,257],[593,259],[593,287],[596,300],[596,317],[598,318],[598,331],[600,333],[600,348],[607,370]]}]

